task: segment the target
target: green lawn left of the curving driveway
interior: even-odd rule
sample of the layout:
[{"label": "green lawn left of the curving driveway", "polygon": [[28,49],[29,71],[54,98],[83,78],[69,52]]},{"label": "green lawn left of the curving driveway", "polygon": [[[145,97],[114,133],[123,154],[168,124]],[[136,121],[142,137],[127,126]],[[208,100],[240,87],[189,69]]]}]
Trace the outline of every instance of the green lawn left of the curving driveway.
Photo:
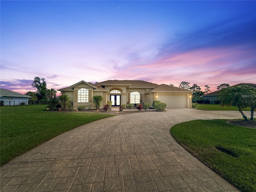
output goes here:
[{"label": "green lawn left of the curving driveway", "polygon": [[66,131],[110,116],[114,115],[46,111],[44,105],[1,106],[1,166]]}]

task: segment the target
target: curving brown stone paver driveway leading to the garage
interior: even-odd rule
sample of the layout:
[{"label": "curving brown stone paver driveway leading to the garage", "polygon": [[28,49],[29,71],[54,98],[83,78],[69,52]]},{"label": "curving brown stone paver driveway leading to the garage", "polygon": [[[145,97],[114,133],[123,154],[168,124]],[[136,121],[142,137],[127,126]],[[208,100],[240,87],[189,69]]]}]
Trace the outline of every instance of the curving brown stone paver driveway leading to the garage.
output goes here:
[{"label": "curving brown stone paver driveway leading to the garage", "polygon": [[170,134],[174,124],[216,118],[241,114],[168,109],[80,126],[2,166],[1,191],[238,191]]}]

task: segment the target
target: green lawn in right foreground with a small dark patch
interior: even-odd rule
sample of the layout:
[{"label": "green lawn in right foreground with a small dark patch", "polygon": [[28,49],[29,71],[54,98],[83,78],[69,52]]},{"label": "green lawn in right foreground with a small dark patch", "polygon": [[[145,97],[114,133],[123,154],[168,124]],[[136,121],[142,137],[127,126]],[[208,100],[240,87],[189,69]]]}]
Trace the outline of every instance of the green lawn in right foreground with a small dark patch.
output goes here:
[{"label": "green lawn in right foreground with a small dark patch", "polygon": [[225,120],[194,120],[174,125],[171,133],[188,152],[236,188],[256,191],[256,129]]}]

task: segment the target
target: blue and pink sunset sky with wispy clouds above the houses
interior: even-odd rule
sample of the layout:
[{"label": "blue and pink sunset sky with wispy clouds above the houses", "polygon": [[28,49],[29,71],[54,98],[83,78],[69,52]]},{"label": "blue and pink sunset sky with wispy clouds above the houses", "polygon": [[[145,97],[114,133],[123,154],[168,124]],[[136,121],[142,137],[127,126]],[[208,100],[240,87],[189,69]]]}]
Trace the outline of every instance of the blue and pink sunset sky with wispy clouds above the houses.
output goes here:
[{"label": "blue and pink sunset sky with wispy clouds above the houses", "polygon": [[[256,1],[0,1],[1,88],[256,83]],[[215,85],[216,84],[216,85]]]}]

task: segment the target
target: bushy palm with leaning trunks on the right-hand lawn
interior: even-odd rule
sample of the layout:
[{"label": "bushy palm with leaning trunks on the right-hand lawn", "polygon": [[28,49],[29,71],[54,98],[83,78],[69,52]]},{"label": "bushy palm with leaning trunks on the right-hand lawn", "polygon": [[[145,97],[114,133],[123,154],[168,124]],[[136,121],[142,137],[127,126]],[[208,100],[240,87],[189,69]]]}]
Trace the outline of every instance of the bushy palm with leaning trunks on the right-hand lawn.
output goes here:
[{"label": "bushy palm with leaning trunks on the right-hand lawn", "polygon": [[[246,107],[251,107],[251,109],[256,104],[256,89],[249,87],[245,84],[231,86],[227,88],[222,88],[220,90],[220,95],[218,96],[221,105],[227,106],[237,106],[239,112],[242,114],[244,120],[247,117],[243,113],[242,109]],[[251,118],[253,119],[253,112],[251,111]]]}]

